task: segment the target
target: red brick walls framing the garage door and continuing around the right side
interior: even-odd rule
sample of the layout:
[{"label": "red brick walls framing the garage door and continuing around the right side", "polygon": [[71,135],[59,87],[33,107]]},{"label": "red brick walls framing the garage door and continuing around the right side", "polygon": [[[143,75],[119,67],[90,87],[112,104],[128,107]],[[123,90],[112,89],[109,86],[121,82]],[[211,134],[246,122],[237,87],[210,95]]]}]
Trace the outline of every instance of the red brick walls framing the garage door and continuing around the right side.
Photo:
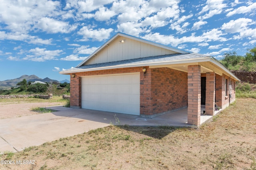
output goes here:
[{"label": "red brick walls framing the garage door and continuing around the right side", "polygon": [[140,72],[140,114],[152,115],[187,107],[187,73],[170,68],[118,68],[76,73],[70,77],[70,106],[81,107],[81,76]]}]

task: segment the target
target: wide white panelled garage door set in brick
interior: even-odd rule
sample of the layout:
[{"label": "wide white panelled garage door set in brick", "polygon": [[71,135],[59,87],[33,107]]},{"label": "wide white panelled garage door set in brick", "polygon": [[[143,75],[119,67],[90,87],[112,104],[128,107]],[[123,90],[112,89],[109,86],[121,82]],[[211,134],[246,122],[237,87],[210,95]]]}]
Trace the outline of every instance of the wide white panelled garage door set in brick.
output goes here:
[{"label": "wide white panelled garage door set in brick", "polygon": [[82,78],[83,109],[140,115],[140,74]]}]

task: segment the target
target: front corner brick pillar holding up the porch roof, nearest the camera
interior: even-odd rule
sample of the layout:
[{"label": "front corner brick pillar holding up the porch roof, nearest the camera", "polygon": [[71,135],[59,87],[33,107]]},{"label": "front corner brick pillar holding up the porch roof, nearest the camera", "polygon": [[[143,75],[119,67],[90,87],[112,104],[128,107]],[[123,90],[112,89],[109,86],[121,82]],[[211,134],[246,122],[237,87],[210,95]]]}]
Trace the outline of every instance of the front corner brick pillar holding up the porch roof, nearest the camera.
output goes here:
[{"label": "front corner brick pillar holding up the porch roof, nearest the camera", "polygon": [[188,124],[200,125],[201,66],[188,66]]}]

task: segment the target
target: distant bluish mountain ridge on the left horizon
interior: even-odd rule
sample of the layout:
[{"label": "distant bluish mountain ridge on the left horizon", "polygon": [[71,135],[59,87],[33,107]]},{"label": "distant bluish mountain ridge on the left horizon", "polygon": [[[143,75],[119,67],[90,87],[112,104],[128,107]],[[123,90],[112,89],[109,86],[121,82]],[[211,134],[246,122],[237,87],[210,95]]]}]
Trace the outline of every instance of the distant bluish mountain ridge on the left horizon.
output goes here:
[{"label": "distant bluish mountain ridge on the left horizon", "polygon": [[39,78],[38,76],[36,75],[23,75],[23,76],[20,76],[19,78],[14,78],[14,79],[11,79],[11,80],[4,80],[4,81],[0,81],[0,88],[10,88],[10,87],[15,87],[16,84],[18,82],[21,82],[23,79],[26,79],[27,82],[31,81],[31,82],[34,82],[34,81],[41,81],[41,82],[58,82],[60,83],[58,80],[52,80],[48,77],[42,79],[42,78]]}]

